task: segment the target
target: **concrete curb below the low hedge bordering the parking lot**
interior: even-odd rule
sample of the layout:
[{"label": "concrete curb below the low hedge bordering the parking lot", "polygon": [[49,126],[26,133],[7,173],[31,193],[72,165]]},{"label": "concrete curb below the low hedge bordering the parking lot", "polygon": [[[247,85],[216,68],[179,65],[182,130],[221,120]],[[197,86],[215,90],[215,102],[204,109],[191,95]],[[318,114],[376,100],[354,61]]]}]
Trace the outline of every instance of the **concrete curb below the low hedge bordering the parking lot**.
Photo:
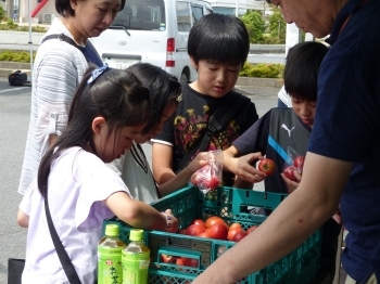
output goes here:
[{"label": "concrete curb below the low hedge bordering the parking lot", "polygon": [[[30,63],[0,62],[0,77],[8,78],[15,70],[25,72],[30,76]],[[279,78],[239,77],[237,81],[237,86],[281,88],[282,85],[283,80]]]}]

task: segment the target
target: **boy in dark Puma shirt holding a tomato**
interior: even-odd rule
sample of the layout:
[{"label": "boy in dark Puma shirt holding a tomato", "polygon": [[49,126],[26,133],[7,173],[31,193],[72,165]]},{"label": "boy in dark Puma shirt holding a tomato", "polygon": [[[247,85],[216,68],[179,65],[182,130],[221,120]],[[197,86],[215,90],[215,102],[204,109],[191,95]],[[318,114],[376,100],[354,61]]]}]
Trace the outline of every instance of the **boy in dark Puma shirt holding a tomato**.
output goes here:
[{"label": "boy in dark Puma shirt holding a tomato", "polygon": [[[265,178],[265,191],[290,193],[297,182],[290,182],[282,173],[289,160],[288,149],[305,156],[315,118],[317,104],[317,77],[328,48],[318,42],[302,42],[289,50],[284,68],[284,88],[290,94],[292,108],[273,108],[261,117],[248,131],[224,151],[224,167],[240,177],[256,175],[251,166],[255,162],[249,153],[261,152],[276,164],[276,172]],[[245,156],[242,156],[245,155]],[[237,156],[241,156],[236,158]],[[296,175],[301,179],[300,175]],[[257,177],[261,180],[264,176]],[[287,180],[287,182],[284,182]],[[291,184],[291,189],[289,188]],[[333,219],[324,224],[322,256],[319,272],[335,271],[338,235],[341,225]]]}]

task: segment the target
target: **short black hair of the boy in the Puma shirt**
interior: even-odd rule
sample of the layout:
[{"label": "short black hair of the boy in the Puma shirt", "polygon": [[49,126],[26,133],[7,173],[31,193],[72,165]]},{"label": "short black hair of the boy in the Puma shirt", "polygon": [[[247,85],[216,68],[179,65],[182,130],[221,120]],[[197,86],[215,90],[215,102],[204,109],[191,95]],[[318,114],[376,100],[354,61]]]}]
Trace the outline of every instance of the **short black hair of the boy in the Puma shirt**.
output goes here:
[{"label": "short black hair of the boy in the Puma shirt", "polygon": [[329,48],[316,41],[305,41],[289,49],[283,72],[286,91],[293,98],[317,101],[318,73]]}]

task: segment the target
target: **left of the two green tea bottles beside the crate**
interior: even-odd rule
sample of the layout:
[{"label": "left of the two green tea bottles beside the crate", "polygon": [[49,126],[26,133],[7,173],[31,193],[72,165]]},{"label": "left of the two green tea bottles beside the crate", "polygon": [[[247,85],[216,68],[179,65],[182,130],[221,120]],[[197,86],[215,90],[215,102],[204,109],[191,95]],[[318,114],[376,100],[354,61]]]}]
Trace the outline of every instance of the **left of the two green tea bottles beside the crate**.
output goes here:
[{"label": "left of the two green tea bottles beside the crate", "polygon": [[105,225],[105,236],[98,244],[98,284],[123,283],[122,250],[117,224]]}]

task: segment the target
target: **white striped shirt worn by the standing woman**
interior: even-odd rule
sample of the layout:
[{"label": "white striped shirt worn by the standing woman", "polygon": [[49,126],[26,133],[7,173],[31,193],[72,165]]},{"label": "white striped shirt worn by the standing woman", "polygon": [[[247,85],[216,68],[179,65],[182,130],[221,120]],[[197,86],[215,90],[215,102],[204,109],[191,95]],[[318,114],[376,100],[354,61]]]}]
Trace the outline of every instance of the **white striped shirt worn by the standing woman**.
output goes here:
[{"label": "white striped shirt worn by the standing woman", "polygon": [[[46,36],[62,33],[73,38],[55,18]],[[64,41],[51,39],[40,44],[33,68],[30,121],[18,193],[24,194],[37,176],[49,150],[49,135],[60,135],[66,127],[72,98],[87,67],[83,52]]]}]

